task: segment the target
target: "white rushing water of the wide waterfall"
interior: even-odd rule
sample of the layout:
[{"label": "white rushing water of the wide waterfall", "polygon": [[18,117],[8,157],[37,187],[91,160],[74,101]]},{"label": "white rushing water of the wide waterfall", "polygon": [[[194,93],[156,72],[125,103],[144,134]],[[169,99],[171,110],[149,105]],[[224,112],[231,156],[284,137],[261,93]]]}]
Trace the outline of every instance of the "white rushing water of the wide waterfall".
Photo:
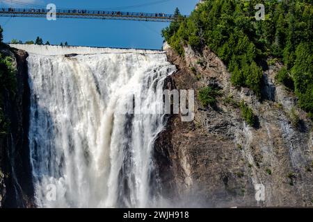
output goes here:
[{"label": "white rushing water of the wide waterfall", "polygon": [[[47,56],[49,46],[29,47],[23,49],[31,51],[29,140],[38,207],[155,207],[152,148],[165,118],[119,110],[130,94],[143,96],[143,106],[159,103],[149,95],[175,71],[166,54],[88,49],[93,54],[68,58]],[[69,51],[75,53],[58,48],[60,55]]]}]

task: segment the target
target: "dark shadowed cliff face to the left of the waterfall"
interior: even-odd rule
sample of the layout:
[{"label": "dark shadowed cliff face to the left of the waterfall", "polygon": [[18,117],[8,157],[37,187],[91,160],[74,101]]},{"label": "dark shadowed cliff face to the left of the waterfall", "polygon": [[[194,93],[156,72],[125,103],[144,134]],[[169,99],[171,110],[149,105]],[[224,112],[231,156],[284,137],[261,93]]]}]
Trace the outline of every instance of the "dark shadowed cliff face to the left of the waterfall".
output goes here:
[{"label": "dark shadowed cliff face to the left of the waterfall", "polygon": [[[16,67],[15,96],[3,92],[4,113],[10,132],[0,142],[0,206],[31,207],[33,185],[27,132],[29,127],[29,85],[25,51],[4,47],[1,53],[13,59]],[[0,171],[0,172],[1,172]]]}]

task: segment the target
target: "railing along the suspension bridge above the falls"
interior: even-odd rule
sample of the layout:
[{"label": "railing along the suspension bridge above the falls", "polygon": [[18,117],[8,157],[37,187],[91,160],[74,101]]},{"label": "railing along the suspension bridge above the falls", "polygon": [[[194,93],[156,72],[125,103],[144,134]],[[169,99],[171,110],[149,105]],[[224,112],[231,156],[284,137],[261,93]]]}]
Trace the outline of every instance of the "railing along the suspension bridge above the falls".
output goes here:
[{"label": "railing along the suspension bridge above the falls", "polygon": [[[49,10],[42,8],[0,8],[0,14],[47,14]],[[165,13],[147,13],[147,12],[122,12],[107,10],[81,10],[81,9],[57,9],[56,15],[92,15],[93,17],[149,17],[155,19],[174,20],[175,15]],[[186,16],[185,16],[186,17]]]}]

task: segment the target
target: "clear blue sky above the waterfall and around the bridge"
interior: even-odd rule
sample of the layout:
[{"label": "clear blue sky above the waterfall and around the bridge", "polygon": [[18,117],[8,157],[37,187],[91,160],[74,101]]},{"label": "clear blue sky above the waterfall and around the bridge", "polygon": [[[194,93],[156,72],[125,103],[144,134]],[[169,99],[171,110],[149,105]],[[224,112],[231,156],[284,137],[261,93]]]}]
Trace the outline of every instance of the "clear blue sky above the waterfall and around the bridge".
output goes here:
[{"label": "clear blue sky above the waterfall and around the bridge", "polygon": [[[10,1],[10,0],[7,0]],[[7,1],[0,0],[0,7],[7,7]],[[35,5],[46,6],[55,3],[57,8],[106,9],[134,6],[156,2],[158,0],[14,0]],[[178,7],[182,14],[189,15],[198,0],[168,0],[151,6],[125,9],[131,12],[172,13]],[[15,8],[24,6],[12,5]],[[0,17],[4,41],[12,39],[35,40],[42,37],[51,44],[67,41],[70,45],[109,46],[137,49],[161,49],[163,38],[161,29],[168,23],[115,21],[98,19],[57,19],[47,21],[45,18]]]}]

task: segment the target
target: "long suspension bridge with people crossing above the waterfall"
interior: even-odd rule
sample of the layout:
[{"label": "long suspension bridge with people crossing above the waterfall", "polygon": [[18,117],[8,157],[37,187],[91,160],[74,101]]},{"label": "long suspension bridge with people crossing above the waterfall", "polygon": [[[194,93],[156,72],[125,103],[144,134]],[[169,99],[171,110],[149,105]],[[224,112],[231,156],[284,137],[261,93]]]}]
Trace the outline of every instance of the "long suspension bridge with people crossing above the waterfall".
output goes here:
[{"label": "long suspension bridge with people crossing above the waterfall", "polygon": [[[0,8],[0,17],[47,17],[50,10],[45,8]],[[186,15],[184,15],[186,17]],[[56,18],[67,19],[118,19],[146,22],[172,22],[177,19],[174,14],[122,12],[109,10],[57,9]]]}]

